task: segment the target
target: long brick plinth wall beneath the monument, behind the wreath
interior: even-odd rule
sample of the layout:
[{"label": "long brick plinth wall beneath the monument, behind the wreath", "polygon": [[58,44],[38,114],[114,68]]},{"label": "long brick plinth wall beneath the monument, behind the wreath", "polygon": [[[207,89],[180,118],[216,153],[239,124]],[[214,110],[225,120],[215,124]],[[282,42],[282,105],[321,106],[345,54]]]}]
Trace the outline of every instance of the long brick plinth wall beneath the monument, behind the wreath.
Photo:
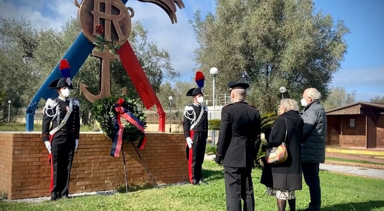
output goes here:
[{"label": "long brick plinth wall beneath the monument, behind the wreath", "polygon": [[[6,151],[3,146],[12,153],[3,152]],[[111,157],[110,146],[111,141],[102,133],[80,133],[69,193],[115,189],[125,183],[122,153],[120,157]],[[140,154],[157,183],[188,180],[184,146],[180,133],[147,133],[145,149]],[[50,164],[39,133],[0,133],[0,148],[0,170],[3,166],[4,172],[11,169],[8,177],[4,174],[0,179],[0,190],[3,189],[8,198],[49,195]],[[123,149],[128,183],[150,182],[132,145],[124,144]]]}]

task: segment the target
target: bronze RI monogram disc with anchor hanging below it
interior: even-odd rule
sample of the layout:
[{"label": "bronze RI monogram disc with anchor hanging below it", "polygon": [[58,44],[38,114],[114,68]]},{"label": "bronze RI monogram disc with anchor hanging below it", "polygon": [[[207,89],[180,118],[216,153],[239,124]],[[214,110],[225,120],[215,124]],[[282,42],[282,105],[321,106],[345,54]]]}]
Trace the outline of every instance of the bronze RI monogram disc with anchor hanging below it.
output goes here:
[{"label": "bronze RI monogram disc with anchor hanging below it", "polygon": [[[79,7],[77,20],[85,37],[94,42],[99,33],[96,31],[97,25],[102,25],[104,40],[108,43],[114,43],[114,46],[121,46],[127,39],[131,29],[131,20],[133,9],[125,7],[121,0],[82,0],[74,4]],[[130,11],[130,14],[128,12]],[[86,84],[80,82],[80,92],[86,99],[94,102],[97,99],[110,96],[110,60],[118,59],[117,54],[111,53],[108,46],[101,52],[93,49],[92,56],[100,58],[100,90],[97,95],[90,93]],[[123,88],[123,92],[126,88]]]}]

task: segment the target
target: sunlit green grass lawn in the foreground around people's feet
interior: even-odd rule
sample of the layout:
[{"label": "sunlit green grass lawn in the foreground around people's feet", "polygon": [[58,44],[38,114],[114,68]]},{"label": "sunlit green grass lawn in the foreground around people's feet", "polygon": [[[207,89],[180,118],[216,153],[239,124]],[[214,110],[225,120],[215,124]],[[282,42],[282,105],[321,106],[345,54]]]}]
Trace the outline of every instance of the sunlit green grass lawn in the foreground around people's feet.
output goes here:
[{"label": "sunlit green grass lawn in the foreground around people's feet", "polygon": [[[277,210],[275,198],[267,196],[259,183],[260,169],[252,170],[255,210]],[[78,196],[41,203],[6,202],[0,210],[225,210],[222,166],[204,161],[203,176],[209,184],[170,185],[115,195]],[[320,171],[322,210],[384,210],[384,180]],[[304,209],[309,201],[305,184],[296,191],[296,208]],[[288,210],[288,208],[287,208]]]}]

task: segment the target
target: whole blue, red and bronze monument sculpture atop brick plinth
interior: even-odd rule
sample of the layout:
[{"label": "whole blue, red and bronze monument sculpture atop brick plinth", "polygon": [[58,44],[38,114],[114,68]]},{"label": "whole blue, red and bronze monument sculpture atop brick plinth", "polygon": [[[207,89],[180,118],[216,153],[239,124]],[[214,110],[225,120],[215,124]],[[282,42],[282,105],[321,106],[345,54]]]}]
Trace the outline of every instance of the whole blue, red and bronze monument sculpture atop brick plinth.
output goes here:
[{"label": "whole blue, red and bronze monument sculpture atop brick plinth", "polygon": [[[168,14],[172,23],[177,22],[175,5],[180,9],[184,7],[182,0],[138,1],[151,2],[160,6]],[[156,105],[159,114],[159,131],[164,132],[165,112],[163,111],[148,78],[142,70],[136,55],[127,41],[131,27],[130,18],[133,17],[134,11],[130,7],[125,7],[126,2],[127,0],[82,0],[79,3],[77,0],[74,0],[74,4],[79,7],[77,19],[82,28],[82,32],[73,41],[72,45],[68,48],[62,58],[67,59],[71,65],[71,72],[73,75],[70,75],[70,78],[72,79],[94,48],[93,42],[96,40],[97,35],[95,26],[97,24],[103,25],[105,28],[103,36],[104,40],[107,43],[112,43],[113,46],[118,48],[116,49],[118,55],[109,52],[108,47],[105,47],[102,52],[93,50],[92,56],[99,57],[102,60],[100,70],[100,93],[97,95],[89,93],[88,90],[86,90],[86,85],[84,83],[80,83],[81,92],[91,102],[109,96],[109,62],[110,59],[119,58],[125,72],[131,78],[132,84],[138,92],[144,106],[149,109],[153,105]],[[26,131],[33,131],[34,111],[36,110],[40,98],[47,99],[57,95],[55,90],[48,89],[47,87],[50,81],[60,77],[58,66],[58,64],[55,66],[26,108]],[[123,91],[126,91],[126,87],[122,89]]]}]

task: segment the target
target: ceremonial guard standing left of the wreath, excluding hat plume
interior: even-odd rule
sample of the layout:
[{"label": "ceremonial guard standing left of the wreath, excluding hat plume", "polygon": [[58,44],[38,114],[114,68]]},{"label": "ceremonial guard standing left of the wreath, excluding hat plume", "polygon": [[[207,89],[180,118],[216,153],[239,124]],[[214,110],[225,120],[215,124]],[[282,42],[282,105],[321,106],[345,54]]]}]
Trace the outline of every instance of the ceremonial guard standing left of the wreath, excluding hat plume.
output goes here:
[{"label": "ceremonial guard standing left of the wreath, excluding hat plume", "polygon": [[69,77],[59,78],[49,84],[49,88],[57,89],[59,96],[48,98],[43,109],[42,140],[51,164],[51,200],[68,196],[70,169],[78,145],[79,102],[68,97],[69,88],[73,88],[68,81]]}]

